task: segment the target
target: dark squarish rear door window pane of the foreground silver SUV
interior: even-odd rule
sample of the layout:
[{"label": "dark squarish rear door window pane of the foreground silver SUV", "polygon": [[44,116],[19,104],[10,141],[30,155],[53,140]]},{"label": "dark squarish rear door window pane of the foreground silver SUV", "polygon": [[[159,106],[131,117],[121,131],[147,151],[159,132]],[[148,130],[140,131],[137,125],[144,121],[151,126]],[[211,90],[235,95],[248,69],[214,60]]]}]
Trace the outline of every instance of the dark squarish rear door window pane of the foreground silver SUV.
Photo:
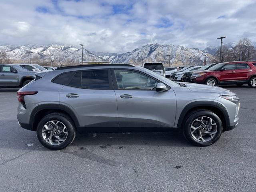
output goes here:
[{"label": "dark squarish rear door window pane of the foreground silver SUV", "polygon": [[108,70],[88,70],[82,72],[82,88],[109,89]]}]

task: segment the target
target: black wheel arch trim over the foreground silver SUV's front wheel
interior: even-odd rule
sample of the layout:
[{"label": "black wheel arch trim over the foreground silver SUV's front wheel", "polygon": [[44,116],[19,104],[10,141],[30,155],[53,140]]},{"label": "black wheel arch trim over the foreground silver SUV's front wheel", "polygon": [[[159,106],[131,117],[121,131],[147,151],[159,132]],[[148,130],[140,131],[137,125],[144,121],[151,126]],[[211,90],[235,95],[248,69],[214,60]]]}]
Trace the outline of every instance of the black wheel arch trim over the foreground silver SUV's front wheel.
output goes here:
[{"label": "black wheel arch trim over the foreground silver SUV's front wheel", "polygon": [[194,102],[191,102],[189,103],[188,105],[186,105],[181,114],[180,114],[180,117],[178,119],[178,128],[181,128],[182,127],[182,123],[184,121],[184,118],[185,118],[185,115],[187,114],[187,112],[193,108],[197,108],[197,107],[202,107],[202,108],[207,108],[207,107],[214,107],[214,108],[217,108],[218,110],[220,110],[224,116],[224,119],[225,119],[225,124],[226,124],[226,127],[223,128],[223,130],[226,130],[230,127],[230,120],[229,120],[229,116],[228,116],[228,112],[226,110],[226,108],[218,103],[218,102],[214,102],[214,101],[194,101]]}]

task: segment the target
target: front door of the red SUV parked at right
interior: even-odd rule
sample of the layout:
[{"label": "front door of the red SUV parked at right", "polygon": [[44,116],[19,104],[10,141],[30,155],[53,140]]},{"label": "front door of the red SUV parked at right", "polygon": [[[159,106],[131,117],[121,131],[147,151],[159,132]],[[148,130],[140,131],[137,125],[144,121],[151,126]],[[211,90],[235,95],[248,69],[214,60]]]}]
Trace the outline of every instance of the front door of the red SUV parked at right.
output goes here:
[{"label": "front door of the red SUV parked at right", "polygon": [[220,82],[229,82],[236,80],[235,64],[226,64],[219,72]]}]

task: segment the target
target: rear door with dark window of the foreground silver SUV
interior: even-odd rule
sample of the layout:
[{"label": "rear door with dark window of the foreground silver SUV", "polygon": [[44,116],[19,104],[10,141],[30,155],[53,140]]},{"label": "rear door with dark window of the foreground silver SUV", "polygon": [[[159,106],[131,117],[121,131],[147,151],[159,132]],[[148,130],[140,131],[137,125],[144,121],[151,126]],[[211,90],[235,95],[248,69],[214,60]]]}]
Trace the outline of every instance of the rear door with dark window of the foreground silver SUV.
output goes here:
[{"label": "rear door with dark window of the foreground silver SUV", "polygon": [[80,126],[118,130],[116,95],[110,73],[108,69],[83,70],[65,78],[70,79],[60,91],[60,104],[75,112]]}]

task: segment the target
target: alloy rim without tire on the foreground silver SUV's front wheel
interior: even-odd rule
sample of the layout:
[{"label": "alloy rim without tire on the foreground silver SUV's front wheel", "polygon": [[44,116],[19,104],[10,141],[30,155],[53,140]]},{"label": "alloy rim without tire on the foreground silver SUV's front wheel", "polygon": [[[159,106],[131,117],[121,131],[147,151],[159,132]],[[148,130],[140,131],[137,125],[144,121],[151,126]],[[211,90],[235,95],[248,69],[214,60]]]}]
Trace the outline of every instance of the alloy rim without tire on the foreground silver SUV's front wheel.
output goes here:
[{"label": "alloy rim without tire on the foreground silver SUV's front wheel", "polygon": [[190,134],[196,141],[208,142],[217,134],[216,122],[207,116],[196,118],[190,126]]}]

